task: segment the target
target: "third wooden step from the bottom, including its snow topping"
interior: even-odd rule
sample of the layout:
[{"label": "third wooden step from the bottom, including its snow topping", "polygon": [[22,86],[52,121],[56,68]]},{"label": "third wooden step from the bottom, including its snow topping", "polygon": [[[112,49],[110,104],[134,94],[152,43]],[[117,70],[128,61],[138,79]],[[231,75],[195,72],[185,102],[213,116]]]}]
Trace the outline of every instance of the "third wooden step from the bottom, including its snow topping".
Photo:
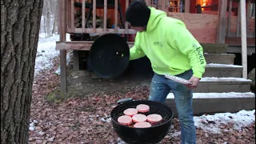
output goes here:
[{"label": "third wooden step from the bottom, including its snow topping", "polygon": [[203,77],[242,77],[242,66],[210,63],[206,65]]}]

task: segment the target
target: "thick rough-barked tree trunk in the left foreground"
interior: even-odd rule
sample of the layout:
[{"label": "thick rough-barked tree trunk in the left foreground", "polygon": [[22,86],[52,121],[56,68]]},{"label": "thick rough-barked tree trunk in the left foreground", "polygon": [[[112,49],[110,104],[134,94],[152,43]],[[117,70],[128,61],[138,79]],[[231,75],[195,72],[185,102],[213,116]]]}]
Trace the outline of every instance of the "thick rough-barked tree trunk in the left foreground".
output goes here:
[{"label": "thick rough-barked tree trunk in the left foreground", "polygon": [[1,143],[29,142],[42,1],[1,1]]}]

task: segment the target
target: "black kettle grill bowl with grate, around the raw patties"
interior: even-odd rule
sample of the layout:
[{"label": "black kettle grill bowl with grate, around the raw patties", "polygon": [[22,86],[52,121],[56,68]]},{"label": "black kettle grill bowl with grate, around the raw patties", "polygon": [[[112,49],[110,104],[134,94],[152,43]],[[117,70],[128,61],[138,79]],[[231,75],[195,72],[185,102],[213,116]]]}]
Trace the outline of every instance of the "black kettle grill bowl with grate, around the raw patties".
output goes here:
[{"label": "black kettle grill bowl with grate, around the raw patties", "polygon": [[[118,117],[123,115],[123,110],[127,108],[136,108],[139,104],[146,104],[150,106],[148,114],[160,114],[162,116],[162,122],[152,125],[149,128],[134,128],[130,126],[122,126],[118,123]],[[166,134],[170,130],[170,126],[174,117],[173,110],[161,102],[154,101],[132,101],[124,102],[111,111],[111,122],[118,137],[126,143],[157,143],[161,142],[165,138]]]}]

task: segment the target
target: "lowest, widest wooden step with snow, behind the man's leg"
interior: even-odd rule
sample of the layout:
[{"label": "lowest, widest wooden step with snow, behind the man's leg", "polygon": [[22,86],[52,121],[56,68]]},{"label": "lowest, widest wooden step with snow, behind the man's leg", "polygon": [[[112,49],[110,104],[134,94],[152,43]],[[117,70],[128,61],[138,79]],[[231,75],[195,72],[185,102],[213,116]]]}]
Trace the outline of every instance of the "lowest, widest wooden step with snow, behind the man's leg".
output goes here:
[{"label": "lowest, widest wooden step with snow, behind the man's leg", "polygon": [[[168,94],[166,105],[174,110],[177,117],[176,103],[174,94]],[[254,93],[194,93],[193,94],[194,115],[213,114],[223,112],[238,112],[239,110],[255,109]]]}]

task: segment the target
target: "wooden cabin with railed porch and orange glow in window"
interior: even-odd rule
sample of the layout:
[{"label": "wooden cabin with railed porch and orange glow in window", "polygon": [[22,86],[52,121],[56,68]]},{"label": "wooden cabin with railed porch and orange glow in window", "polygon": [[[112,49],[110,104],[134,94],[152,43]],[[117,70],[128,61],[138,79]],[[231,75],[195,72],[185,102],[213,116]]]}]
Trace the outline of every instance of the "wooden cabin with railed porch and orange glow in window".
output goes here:
[{"label": "wooden cabin with railed porch and orange glow in window", "polygon": [[[94,37],[102,34],[120,34],[131,47],[135,31],[125,22],[125,12],[131,0],[59,0],[61,90],[66,93],[66,50],[90,50]],[[148,6],[166,11],[172,18],[186,23],[188,30],[201,43],[240,46],[242,29],[238,0],[146,0]],[[246,0],[246,42],[255,42],[255,1]],[[66,42],[66,33],[71,42]],[[243,43],[245,41],[242,41]],[[254,48],[255,49],[255,48]],[[244,54],[245,55],[245,54]],[[78,62],[74,58],[74,67]]]}]

